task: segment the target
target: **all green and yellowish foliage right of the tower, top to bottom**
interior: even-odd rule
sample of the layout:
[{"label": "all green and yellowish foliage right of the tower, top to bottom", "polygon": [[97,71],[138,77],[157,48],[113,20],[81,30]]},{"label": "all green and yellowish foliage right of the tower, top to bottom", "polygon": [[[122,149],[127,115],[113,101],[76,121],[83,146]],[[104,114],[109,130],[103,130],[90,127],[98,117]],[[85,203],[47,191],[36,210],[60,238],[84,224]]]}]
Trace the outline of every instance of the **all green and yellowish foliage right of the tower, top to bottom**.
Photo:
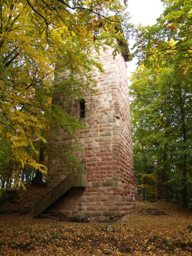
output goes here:
[{"label": "all green and yellowish foliage right of the tower, top to bottom", "polygon": [[139,161],[136,173],[143,159],[143,173],[156,173],[166,184],[167,200],[180,204],[182,196],[183,206],[188,207],[192,191],[191,7],[188,0],[164,3],[166,9],[157,24],[138,29],[135,53],[143,64],[133,74],[130,87],[134,158]]}]

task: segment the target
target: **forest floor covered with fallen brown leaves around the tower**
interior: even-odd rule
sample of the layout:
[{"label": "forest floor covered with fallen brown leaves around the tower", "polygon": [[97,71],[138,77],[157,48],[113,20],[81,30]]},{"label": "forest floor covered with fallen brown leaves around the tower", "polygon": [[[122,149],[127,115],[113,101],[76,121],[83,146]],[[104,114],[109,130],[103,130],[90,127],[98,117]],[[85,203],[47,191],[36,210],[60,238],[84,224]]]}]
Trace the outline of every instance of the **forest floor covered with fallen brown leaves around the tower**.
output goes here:
[{"label": "forest floor covered with fallen brown leaves around the tower", "polygon": [[0,214],[0,255],[192,255],[192,214],[182,207],[136,202],[135,212],[112,224],[45,221],[33,218],[34,202],[45,192],[28,188],[20,192],[22,204],[0,207],[9,212]]}]

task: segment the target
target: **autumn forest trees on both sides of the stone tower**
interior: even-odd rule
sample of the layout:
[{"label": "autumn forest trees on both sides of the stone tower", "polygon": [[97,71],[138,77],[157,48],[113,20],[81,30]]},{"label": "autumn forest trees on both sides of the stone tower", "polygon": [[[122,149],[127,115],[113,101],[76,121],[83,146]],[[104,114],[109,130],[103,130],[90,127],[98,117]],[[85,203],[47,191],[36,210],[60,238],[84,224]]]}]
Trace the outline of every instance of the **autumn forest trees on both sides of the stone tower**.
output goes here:
[{"label": "autumn forest trees on both sides of the stone tower", "polygon": [[[115,57],[125,51],[116,42],[126,44],[134,34],[140,63],[130,86],[135,176],[145,201],[166,198],[191,208],[192,6],[190,0],[163,3],[157,24],[135,28],[128,3],[119,0],[0,1],[1,190],[45,185],[49,151],[66,169],[81,169],[72,147],[61,155],[49,143],[51,125],[73,138],[82,128],[52,95],[82,99],[96,83],[90,71],[104,72],[93,49],[99,56],[101,47],[113,47]],[[64,69],[69,79],[55,86],[54,76]]]}]

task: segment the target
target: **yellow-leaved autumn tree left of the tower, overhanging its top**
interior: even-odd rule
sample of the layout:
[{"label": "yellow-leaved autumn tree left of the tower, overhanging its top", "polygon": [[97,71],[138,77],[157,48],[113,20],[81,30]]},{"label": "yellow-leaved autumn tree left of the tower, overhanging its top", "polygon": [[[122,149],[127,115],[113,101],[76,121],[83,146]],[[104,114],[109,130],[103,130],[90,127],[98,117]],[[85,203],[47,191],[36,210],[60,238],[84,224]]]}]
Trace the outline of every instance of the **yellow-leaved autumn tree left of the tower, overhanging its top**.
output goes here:
[{"label": "yellow-leaved autumn tree left of the tower, overhanging its top", "polygon": [[[81,127],[51,104],[51,98],[54,92],[81,98],[81,88],[88,90],[90,82],[96,83],[89,72],[104,70],[93,50],[99,55],[100,47],[110,45],[115,55],[116,40],[125,41],[117,29],[126,20],[120,2],[0,1],[0,140],[10,146],[7,157],[15,163],[13,175],[26,167],[46,172],[38,154],[42,145],[49,146],[51,122],[73,136]],[[54,75],[64,69],[70,70],[69,79],[54,86]]]}]

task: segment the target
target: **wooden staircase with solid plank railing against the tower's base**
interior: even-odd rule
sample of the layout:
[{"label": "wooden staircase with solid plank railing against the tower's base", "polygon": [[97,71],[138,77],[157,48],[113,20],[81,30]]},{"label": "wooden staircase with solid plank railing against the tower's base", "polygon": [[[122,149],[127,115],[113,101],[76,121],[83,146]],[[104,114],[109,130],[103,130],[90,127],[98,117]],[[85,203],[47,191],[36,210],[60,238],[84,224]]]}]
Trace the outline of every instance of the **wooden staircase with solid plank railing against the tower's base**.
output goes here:
[{"label": "wooden staircase with solid plank railing against the tower's base", "polygon": [[73,187],[87,187],[87,174],[73,172],[49,191],[34,206],[34,216],[37,217]]}]

